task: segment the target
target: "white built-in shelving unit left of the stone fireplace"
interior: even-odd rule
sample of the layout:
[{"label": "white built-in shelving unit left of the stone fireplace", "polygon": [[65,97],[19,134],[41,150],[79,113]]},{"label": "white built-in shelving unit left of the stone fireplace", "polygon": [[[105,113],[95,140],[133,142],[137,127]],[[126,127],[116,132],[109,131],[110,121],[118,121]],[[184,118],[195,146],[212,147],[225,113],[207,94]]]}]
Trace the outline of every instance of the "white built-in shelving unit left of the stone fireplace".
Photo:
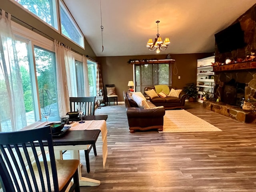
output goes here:
[{"label": "white built-in shelving unit left of the stone fireplace", "polygon": [[212,62],[214,56],[197,60],[197,87],[198,87],[198,102],[203,102],[205,92],[212,92],[214,87],[214,72]]}]

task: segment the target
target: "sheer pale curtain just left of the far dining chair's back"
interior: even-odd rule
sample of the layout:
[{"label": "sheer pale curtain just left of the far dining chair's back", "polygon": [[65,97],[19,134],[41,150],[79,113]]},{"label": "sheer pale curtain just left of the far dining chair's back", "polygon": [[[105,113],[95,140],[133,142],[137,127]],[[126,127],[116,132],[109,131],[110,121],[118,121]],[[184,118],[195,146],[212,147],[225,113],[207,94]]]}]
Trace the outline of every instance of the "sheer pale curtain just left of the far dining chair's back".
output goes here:
[{"label": "sheer pale curtain just left of the far dining chair's back", "polygon": [[57,78],[57,94],[58,107],[60,116],[70,112],[68,82],[66,76],[66,65],[72,62],[72,54],[70,48],[62,46],[61,43],[54,40],[56,55],[56,78]]}]

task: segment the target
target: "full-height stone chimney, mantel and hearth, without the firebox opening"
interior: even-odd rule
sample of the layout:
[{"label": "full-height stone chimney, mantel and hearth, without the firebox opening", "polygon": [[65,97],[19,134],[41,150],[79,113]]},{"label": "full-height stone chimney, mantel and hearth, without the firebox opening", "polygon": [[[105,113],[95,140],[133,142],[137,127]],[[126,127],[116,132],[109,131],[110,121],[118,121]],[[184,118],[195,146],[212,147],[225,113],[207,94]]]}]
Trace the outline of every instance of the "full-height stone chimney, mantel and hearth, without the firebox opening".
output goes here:
[{"label": "full-height stone chimney, mantel and hearth, without the firebox opening", "polygon": [[[256,4],[237,18],[234,23],[236,22],[240,22],[241,28],[244,31],[244,42],[246,46],[232,50],[231,52],[219,53],[218,47],[215,45],[215,62],[224,63],[226,58],[233,58],[235,61],[238,58],[244,59],[252,51],[256,50]],[[245,98],[250,97],[256,100],[256,61],[214,66],[214,68],[217,69],[215,71],[216,75],[214,76],[216,85],[222,86],[224,82],[228,82],[234,78],[237,82],[245,83]],[[215,95],[216,98],[220,96],[217,93]],[[232,106],[222,102],[205,101],[203,105],[209,110],[240,122],[256,123],[256,112],[244,111],[238,106]]]}]

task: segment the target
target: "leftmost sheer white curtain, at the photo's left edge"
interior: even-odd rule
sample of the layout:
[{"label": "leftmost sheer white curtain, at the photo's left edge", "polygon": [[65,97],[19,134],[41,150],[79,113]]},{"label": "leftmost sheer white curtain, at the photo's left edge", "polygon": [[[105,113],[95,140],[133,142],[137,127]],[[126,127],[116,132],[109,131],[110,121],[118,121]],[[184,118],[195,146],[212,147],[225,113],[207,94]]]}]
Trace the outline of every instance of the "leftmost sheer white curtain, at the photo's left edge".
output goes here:
[{"label": "leftmost sheer white curtain, at the photo's left edge", "polygon": [[27,125],[22,78],[11,29],[11,15],[0,14],[0,131]]}]

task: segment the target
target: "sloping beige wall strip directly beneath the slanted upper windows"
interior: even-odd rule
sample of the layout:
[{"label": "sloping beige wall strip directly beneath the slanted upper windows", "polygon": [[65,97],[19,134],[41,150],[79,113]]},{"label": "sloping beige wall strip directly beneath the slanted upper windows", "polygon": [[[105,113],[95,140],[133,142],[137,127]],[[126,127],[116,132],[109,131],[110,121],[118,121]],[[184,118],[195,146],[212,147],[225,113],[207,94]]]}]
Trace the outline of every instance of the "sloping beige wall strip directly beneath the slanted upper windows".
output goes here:
[{"label": "sloping beige wall strip directly beneath the slanted upper windows", "polygon": [[[27,12],[26,10],[20,8],[15,2],[12,0],[0,0],[0,9],[5,10],[6,12],[12,15],[12,20],[25,26],[26,28],[50,39],[50,40],[58,40],[58,42],[62,42],[64,45],[69,46],[73,51],[78,52],[79,54],[88,55],[91,58],[96,58],[92,48],[84,39],[85,42],[85,50],[80,46],[74,44],[72,41],[68,40],[66,37],[59,34],[56,30],[52,29],[50,26],[42,22],[40,19],[35,18]],[[18,20],[16,19],[18,18]]]}]

